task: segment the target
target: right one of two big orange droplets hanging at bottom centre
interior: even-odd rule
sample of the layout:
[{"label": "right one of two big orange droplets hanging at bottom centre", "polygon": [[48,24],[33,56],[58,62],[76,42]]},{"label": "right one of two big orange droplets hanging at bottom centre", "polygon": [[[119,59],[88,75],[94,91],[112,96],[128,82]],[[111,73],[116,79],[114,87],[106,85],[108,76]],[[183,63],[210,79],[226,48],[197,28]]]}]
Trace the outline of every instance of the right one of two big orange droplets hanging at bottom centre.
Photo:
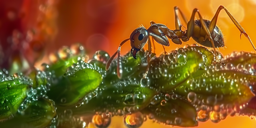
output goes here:
[{"label": "right one of two big orange droplets hanging at bottom centre", "polygon": [[144,122],[144,116],[141,112],[128,114],[124,116],[124,124],[128,128],[139,128]]}]

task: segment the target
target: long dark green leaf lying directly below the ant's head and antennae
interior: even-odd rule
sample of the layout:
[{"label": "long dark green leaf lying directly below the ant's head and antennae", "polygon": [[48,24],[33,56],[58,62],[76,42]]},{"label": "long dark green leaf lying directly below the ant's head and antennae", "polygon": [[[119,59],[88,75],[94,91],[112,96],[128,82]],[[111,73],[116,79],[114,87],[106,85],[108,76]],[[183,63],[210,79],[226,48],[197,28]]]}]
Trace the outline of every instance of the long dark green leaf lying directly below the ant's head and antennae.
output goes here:
[{"label": "long dark green leaf lying directly below the ant's head and antennae", "polygon": [[80,107],[71,108],[74,115],[94,114],[95,112],[128,112],[140,111],[150,103],[157,92],[139,85],[112,86],[102,88],[92,99]]}]

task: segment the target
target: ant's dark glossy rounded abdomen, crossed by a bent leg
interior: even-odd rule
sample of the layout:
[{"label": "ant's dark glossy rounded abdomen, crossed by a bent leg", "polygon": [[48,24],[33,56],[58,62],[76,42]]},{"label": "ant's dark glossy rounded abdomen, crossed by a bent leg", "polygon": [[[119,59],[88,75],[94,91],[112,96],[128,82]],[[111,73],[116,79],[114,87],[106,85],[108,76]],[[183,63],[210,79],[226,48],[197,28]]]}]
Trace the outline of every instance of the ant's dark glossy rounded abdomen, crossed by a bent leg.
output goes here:
[{"label": "ant's dark glossy rounded abdomen, crossed by a bent leg", "polygon": [[[211,21],[205,20],[205,19],[204,19],[204,21],[205,21],[206,26],[208,27]],[[223,34],[217,25],[215,26],[214,31],[211,36],[212,36],[215,48],[224,47]],[[206,32],[202,28],[202,24],[201,24],[200,20],[194,21],[194,31],[192,34],[192,38],[196,42],[201,44],[202,46],[213,48],[212,43],[210,42],[209,38],[206,38]]]}]

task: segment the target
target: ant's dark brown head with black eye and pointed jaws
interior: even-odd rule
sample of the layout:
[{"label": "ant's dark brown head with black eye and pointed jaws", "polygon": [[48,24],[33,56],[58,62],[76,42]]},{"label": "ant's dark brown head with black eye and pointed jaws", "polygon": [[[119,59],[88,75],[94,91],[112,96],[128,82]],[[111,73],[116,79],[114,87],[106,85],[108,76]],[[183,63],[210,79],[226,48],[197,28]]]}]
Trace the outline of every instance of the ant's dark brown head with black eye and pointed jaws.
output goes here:
[{"label": "ant's dark brown head with black eye and pointed jaws", "polygon": [[132,32],[130,41],[132,47],[131,54],[133,58],[136,59],[136,53],[145,46],[148,41],[148,37],[148,31],[144,27],[137,28]]}]

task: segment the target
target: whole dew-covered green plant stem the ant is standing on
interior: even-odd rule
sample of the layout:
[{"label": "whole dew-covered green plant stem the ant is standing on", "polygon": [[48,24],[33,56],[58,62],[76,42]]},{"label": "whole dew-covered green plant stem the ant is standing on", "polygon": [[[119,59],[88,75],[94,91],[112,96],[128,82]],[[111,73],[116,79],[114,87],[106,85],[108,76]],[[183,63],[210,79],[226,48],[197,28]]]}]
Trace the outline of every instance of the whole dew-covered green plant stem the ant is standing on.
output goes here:
[{"label": "whole dew-covered green plant stem the ant is standing on", "polygon": [[[216,61],[208,49],[185,46],[155,56],[149,72],[148,52],[134,59],[121,57],[122,79],[117,60],[105,70],[110,58],[104,51],[86,60],[83,46],[63,47],[52,54],[43,70],[0,74],[1,127],[98,128],[123,116],[128,128],[139,128],[147,119],[165,125],[194,127],[200,122],[220,122],[227,116],[255,116],[256,55],[233,52]],[[74,47],[74,46],[71,46]]]}]

